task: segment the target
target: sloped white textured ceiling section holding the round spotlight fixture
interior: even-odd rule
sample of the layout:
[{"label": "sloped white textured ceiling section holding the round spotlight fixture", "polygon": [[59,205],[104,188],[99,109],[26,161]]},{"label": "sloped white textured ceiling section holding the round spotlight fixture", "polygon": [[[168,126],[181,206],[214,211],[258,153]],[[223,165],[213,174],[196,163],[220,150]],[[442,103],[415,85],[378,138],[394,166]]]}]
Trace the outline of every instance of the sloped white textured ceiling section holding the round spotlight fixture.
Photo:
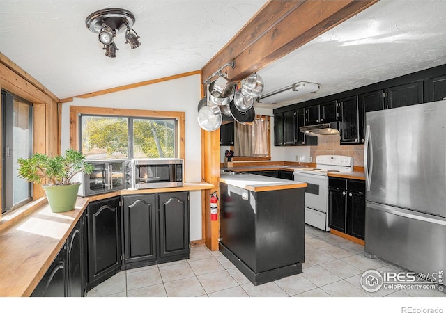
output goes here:
[{"label": "sloped white textured ceiling section holding the round spotlight fixture", "polygon": [[[0,0],[0,52],[60,99],[201,70],[266,0]],[[102,8],[124,8],[141,46],[115,38],[104,55],[85,25]]]}]

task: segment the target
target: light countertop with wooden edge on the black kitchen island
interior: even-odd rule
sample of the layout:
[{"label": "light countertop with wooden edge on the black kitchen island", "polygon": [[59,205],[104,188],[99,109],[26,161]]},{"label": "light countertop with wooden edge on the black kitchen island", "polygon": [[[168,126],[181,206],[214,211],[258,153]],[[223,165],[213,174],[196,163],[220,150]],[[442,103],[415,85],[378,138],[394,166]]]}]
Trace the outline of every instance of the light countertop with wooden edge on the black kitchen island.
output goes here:
[{"label": "light countertop with wooden edge on the black kitchen island", "polygon": [[222,173],[220,182],[254,192],[307,187],[307,183],[304,182],[245,173],[236,173],[235,175]]}]

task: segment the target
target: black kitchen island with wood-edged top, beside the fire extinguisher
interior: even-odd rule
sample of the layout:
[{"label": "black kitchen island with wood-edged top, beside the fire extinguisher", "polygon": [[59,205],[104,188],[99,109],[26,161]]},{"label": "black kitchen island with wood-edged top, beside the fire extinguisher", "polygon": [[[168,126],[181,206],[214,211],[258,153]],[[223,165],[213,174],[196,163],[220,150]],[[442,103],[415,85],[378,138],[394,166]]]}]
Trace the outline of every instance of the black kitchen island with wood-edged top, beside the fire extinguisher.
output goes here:
[{"label": "black kitchen island with wood-edged top, beside the fire extinguisher", "polygon": [[306,187],[286,179],[222,173],[219,249],[252,284],[302,273]]}]

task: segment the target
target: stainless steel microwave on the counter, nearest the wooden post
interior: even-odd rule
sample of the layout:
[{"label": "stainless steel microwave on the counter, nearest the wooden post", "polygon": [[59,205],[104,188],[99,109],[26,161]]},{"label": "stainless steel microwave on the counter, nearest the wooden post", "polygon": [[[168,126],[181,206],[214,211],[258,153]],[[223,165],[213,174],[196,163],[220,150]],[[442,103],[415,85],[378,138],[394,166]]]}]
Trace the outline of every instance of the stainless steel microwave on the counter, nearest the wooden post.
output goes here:
[{"label": "stainless steel microwave on the counter, nearest the wooden post", "polygon": [[166,188],[183,186],[183,159],[133,159],[132,188]]}]

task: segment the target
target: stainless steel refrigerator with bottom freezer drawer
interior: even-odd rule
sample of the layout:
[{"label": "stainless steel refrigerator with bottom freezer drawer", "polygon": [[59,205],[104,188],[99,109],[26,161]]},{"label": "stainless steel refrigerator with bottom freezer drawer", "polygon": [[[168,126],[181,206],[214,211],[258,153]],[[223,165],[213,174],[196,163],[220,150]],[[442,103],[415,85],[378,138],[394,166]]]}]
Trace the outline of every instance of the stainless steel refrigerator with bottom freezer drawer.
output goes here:
[{"label": "stainless steel refrigerator with bottom freezer drawer", "polygon": [[446,101],[366,113],[365,251],[446,270]]}]

